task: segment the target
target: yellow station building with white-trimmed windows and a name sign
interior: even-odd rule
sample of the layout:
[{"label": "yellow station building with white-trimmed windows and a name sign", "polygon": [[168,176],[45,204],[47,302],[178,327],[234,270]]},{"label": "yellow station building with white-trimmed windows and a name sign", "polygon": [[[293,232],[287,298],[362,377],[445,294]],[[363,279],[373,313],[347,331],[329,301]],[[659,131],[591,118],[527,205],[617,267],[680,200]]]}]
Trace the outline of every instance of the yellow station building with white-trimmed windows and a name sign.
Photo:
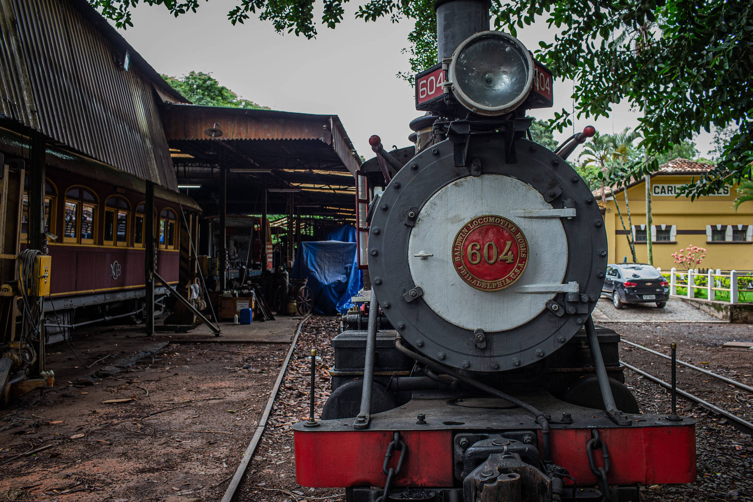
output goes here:
[{"label": "yellow station building with white-trimmed windows and a name sign", "polygon": [[[672,253],[687,246],[706,248],[706,258],[700,263],[703,269],[753,270],[753,202],[742,202],[737,212],[732,202],[737,194],[736,185],[727,185],[719,193],[702,196],[691,201],[684,196],[675,197],[678,187],[698,179],[699,175],[712,169],[713,164],[693,160],[675,159],[662,164],[651,175],[651,229],[646,228],[646,187],[641,180],[623,189],[606,187],[593,191],[604,214],[609,242],[609,263],[622,263],[624,257],[633,261],[625,230],[615,200],[622,211],[628,232],[636,239],[636,257],[647,263],[647,240],[651,236],[654,251],[654,266],[669,270],[675,266]],[[630,204],[629,226],[625,196]]]}]

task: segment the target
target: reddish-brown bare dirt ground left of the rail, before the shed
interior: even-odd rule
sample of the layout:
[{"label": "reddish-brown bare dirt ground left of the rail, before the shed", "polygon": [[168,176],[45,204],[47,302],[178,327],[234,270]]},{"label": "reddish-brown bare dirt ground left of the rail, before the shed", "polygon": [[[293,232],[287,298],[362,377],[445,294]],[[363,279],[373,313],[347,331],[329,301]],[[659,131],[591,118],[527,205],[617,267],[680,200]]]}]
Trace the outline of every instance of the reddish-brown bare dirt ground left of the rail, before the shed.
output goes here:
[{"label": "reddish-brown bare dirt ground left of the rail, before the shed", "polygon": [[[133,327],[73,342],[84,361],[150,344]],[[50,346],[56,385],[0,410],[0,494],[82,502],[220,500],[288,347],[170,344],[154,360],[91,378],[112,358],[87,370],[64,342]]]}]

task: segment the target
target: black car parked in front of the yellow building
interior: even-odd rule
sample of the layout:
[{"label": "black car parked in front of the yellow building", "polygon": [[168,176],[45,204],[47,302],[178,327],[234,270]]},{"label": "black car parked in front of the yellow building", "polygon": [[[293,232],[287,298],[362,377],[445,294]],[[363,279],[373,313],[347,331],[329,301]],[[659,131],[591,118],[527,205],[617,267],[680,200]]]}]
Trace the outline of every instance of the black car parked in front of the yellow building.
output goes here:
[{"label": "black car parked in front of the yellow building", "polygon": [[603,292],[611,296],[615,309],[625,303],[656,303],[661,309],[669,300],[669,282],[646,263],[611,263]]}]

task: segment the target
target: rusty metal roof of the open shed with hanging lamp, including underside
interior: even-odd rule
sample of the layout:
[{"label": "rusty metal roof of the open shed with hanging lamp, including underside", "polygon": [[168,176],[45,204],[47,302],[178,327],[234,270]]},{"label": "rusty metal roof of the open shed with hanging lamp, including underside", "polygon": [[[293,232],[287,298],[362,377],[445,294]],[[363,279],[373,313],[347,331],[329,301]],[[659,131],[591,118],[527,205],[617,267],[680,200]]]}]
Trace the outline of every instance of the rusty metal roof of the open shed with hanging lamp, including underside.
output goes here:
[{"label": "rusty metal roof of the open shed with hanging lamp, including underside", "polygon": [[190,193],[207,208],[224,165],[228,211],[261,214],[265,188],[270,214],[287,213],[291,198],[301,214],[355,211],[361,159],[337,115],[168,105],[163,117],[178,181],[200,185]]}]

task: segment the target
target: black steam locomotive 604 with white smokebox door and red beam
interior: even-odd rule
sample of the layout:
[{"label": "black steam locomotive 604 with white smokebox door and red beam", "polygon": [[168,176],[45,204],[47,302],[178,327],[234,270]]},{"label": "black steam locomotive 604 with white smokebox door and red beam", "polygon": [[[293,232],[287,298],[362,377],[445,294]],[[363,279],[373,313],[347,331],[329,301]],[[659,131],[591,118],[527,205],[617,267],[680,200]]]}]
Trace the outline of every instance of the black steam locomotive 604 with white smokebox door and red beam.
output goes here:
[{"label": "black steam locomotive 604 with white smokebox door and red beam", "polygon": [[[441,0],[439,63],[416,76],[416,143],[358,182],[370,291],[333,340],[321,420],[294,425],[297,482],[349,502],[618,500],[692,482],[695,421],[643,415],[596,327],[601,211],[526,110],[552,75],[489,6]],[[368,205],[368,211],[364,211]]]}]

